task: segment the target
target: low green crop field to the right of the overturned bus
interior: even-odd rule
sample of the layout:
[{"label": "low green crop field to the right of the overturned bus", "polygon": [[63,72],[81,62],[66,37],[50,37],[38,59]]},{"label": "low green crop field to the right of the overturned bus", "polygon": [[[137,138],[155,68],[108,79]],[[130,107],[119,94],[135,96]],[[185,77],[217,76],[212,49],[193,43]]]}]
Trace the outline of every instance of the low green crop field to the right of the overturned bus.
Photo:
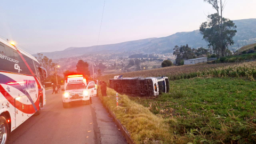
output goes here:
[{"label": "low green crop field to the right of the overturned bus", "polygon": [[[172,81],[170,93],[130,97],[165,119],[176,143],[256,141],[256,83],[241,78]],[[176,119],[177,121],[173,121]]]}]

